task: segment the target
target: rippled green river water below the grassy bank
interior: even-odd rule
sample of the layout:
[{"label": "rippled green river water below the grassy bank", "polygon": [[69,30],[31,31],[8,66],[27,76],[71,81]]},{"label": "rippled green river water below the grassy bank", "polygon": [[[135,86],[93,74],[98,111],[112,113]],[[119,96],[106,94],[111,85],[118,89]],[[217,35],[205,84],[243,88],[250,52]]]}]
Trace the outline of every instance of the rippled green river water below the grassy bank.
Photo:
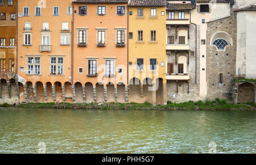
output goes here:
[{"label": "rippled green river water below the grassy bank", "polygon": [[255,111],[0,108],[0,153],[256,153]]}]

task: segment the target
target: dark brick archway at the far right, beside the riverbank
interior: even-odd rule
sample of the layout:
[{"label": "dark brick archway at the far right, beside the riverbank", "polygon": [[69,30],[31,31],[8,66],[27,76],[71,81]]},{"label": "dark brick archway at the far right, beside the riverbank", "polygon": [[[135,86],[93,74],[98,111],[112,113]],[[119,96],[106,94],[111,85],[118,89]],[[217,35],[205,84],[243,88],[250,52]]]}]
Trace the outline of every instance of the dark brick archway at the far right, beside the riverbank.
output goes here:
[{"label": "dark brick archway at the far right, beside the riverbank", "polygon": [[251,83],[242,83],[238,86],[238,103],[254,103],[254,85]]}]

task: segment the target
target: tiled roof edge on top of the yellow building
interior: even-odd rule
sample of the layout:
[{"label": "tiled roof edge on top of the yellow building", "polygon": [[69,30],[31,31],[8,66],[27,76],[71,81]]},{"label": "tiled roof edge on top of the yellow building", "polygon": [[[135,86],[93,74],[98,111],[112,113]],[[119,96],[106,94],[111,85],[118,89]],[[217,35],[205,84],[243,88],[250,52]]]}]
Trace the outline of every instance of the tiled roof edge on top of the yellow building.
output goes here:
[{"label": "tiled roof edge on top of the yellow building", "polygon": [[166,6],[166,0],[129,0],[129,6]]}]

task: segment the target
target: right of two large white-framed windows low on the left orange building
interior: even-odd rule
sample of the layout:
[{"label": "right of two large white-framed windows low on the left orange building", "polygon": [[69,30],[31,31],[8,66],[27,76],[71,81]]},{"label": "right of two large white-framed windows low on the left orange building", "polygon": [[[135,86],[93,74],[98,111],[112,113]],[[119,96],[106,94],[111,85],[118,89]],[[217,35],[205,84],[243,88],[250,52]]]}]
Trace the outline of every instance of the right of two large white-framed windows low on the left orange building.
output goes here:
[{"label": "right of two large white-framed windows low on the left orange building", "polygon": [[50,74],[52,75],[63,75],[64,68],[63,57],[51,57],[50,59]]}]

